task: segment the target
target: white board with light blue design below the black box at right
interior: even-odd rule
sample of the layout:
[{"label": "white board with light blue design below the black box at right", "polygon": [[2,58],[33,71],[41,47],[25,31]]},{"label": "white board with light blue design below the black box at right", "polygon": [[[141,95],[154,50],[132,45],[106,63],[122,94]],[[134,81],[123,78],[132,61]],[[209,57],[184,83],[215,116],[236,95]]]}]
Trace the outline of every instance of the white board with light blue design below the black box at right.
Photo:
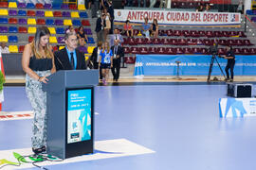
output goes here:
[{"label": "white board with light blue design below the black box at right", "polygon": [[220,117],[256,116],[255,98],[220,98]]}]

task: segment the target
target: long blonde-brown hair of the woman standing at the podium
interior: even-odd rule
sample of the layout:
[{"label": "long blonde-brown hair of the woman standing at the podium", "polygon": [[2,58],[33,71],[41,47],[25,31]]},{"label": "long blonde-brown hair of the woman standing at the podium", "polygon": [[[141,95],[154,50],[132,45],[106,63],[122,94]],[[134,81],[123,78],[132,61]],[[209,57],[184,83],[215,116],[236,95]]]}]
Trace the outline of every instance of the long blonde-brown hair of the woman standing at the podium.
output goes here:
[{"label": "long blonde-brown hair of the woman standing at the podium", "polygon": [[46,44],[46,46],[43,47],[46,56],[43,56],[40,52],[40,39],[43,36],[50,35],[49,29],[46,26],[40,26],[36,30],[35,38],[33,42],[31,43],[32,52],[35,55],[36,59],[52,59],[53,53],[50,49],[49,42]]}]

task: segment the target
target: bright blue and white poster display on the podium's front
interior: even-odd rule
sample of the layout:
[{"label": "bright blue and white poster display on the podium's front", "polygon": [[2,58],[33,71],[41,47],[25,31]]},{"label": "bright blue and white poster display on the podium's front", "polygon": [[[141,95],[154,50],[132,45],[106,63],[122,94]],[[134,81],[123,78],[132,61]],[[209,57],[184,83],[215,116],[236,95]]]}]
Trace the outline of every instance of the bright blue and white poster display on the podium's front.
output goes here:
[{"label": "bright blue and white poster display on the podium's front", "polygon": [[91,140],[92,89],[67,91],[67,144]]}]

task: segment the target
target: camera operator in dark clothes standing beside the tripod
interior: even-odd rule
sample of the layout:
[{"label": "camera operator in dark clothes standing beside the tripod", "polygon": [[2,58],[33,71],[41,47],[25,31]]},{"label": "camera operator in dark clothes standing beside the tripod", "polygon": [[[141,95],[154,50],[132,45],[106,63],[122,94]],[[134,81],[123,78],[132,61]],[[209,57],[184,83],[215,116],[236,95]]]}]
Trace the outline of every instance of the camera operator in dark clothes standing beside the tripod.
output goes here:
[{"label": "camera operator in dark clothes standing beside the tripod", "polygon": [[[226,81],[232,82],[234,78],[235,55],[231,46],[227,46],[226,49],[227,49],[227,54],[226,56],[224,56],[224,59],[228,59],[227,66],[225,68],[225,71],[227,74]],[[231,79],[229,79],[229,69],[230,69]]]}]

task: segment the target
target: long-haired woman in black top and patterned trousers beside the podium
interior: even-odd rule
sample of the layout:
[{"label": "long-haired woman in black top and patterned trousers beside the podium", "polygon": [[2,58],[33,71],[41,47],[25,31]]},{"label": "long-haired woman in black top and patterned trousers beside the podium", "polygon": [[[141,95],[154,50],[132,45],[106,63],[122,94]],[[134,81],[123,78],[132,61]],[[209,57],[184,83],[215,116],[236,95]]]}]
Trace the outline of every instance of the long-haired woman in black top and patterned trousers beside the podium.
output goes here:
[{"label": "long-haired woman in black top and patterned trousers beside the podium", "polygon": [[32,150],[35,154],[46,151],[46,92],[42,83],[55,72],[50,32],[46,26],[38,27],[33,42],[25,46],[22,67],[26,73],[26,93],[34,112]]}]

